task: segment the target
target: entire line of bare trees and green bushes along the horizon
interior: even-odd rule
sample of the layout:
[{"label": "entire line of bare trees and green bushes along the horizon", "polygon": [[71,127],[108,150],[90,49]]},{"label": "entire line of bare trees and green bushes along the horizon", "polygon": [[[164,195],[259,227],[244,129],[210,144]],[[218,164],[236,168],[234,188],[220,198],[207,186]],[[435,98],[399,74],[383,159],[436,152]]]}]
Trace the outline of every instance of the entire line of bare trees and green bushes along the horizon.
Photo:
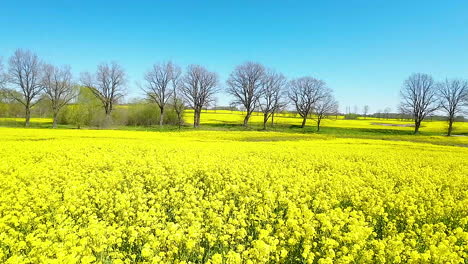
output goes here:
[{"label": "entire line of bare trees and green bushes along the horizon", "polygon": [[[143,75],[139,84],[145,98],[121,105],[127,94],[125,69],[116,62],[101,63],[95,72],[84,72],[74,78],[69,66],[54,66],[40,60],[28,50],[18,49],[9,58],[7,67],[0,61],[0,115],[17,116],[22,109],[25,126],[31,113],[50,115],[53,127],[58,123],[83,125],[111,124],[155,125],[183,124],[186,108],[193,109],[193,126],[200,125],[202,109],[240,109],[245,113],[243,125],[248,126],[254,112],[263,116],[263,128],[275,115],[286,110],[302,118],[301,127],[314,119],[317,130],[321,121],[338,115],[338,103],[333,90],[320,79],[304,76],[287,78],[262,64],[246,62],[237,66],[220,89],[218,75],[200,65],[189,65],[185,71],[172,62],[156,63]],[[234,100],[229,107],[217,106],[215,94],[226,92]],[[365,105],[362,115],[357,106],[349,107],[344,117],[360,116],[400,118],[414,121],[418,133],[423,120],[434,113],[443,113],[448,121],[448,135],[458,115],[466,112],[468,83],[454,79],[435,82],[430,75],[413,74],[401,89],[398,113],[390,108],[370,114]],[[120,106],[117,106],[119,105]],[[38,111],[40,113],[38,113]],[[98,114],[102,113],[102,114]]]}]

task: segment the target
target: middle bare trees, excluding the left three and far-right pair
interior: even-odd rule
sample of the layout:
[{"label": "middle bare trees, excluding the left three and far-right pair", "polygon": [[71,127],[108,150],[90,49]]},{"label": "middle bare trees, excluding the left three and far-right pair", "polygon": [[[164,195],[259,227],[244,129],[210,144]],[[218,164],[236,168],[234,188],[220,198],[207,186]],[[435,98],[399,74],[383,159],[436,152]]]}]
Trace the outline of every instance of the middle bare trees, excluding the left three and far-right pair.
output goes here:
[{"label": "middle bare trees, excluding the left three and far-right pair", "polygon": [[[286,107],[288,99],[303,117],[302,127],[307,118],[314,114],[317,117],[317,128],[320,129],[320,121],[326,114],[338,109],[332,91],[325,82],[312,77],[288,82],[283,74],[266,69],[259,63],[246,62],[236,67],[226,85],[226,92],[234,98],[233,104],[245,109],[244,126],[248,126],[254,111],[260,111],[266,129],[268,120]],[[140,86],[159,107],[161,125],[165,108],[172,102],[178,114],[183,110],[184,103],[192,108],[193,125],[198,127],[202,108],[214,102],[214,95],[219,91],[216,73],[199,65],[191,65],[182,75],[180,67],[171,62],[153,65],[144,76],[144,84]]]}]

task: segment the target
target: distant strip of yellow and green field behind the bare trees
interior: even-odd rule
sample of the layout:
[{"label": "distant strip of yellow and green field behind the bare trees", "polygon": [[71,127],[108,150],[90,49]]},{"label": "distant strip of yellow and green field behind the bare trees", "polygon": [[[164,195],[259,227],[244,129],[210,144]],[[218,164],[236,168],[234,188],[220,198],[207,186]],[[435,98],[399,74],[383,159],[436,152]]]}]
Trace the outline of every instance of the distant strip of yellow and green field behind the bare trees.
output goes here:
[{"label": "distant strip of yellow and green field behind the bare trees", "polygon": [[[253,113],[249,121],[249,127],[242,126],[245,113],[229,110],[207,110],[201,114],[201,127],[199,130],[263,130],[263,116],[261,113]],[[185,125],[182,130],[193,129],[193,111],[186,110],[184,116]],[[317,133],[316,121],[313,118],[307,120],[305,128],[301,128],[302,118],[295,114],[278,114],[268,122],[267,131],[287,133]],[[0,118],[0,125],[6,127],[21,127],[24,118]],[[431,121],[423,122],[420,134],[413,135],[413,123],[397,119],[359,118],[355,120],[344,119],[343,116],[331,116],[322,121],[319,134],[340,138],[369,138],[384,140],[403,140],[413,142],[430,142],[443,145],[468,146],[468,122],[456,122],[453,134],[446,137],[447,122]],[[50,118],[32,118],[31,126],[36,128],[52,127]],[[60,128],[76,128],[73,125],[61,125]],[[123,130],[152,130],[152,131],[174,131],[179,130],[176,126],[153,127],[129,127],[115,126],[113,129]],[[294,137],[294,136],[293,136]]]}]

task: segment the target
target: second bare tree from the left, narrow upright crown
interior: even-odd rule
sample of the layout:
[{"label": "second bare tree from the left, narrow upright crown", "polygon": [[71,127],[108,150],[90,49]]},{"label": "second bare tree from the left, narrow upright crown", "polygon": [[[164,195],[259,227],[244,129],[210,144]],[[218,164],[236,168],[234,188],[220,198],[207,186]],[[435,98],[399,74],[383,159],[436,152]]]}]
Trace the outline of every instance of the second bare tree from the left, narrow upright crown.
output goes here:
[{"label": "second bare tree from the left, narrow upright crown", "polygon": [[44,65],[42,85],[51,103],[53,128],[56,128],[59,111],[76,96],[70,67],[58,68],[49,64]]}]

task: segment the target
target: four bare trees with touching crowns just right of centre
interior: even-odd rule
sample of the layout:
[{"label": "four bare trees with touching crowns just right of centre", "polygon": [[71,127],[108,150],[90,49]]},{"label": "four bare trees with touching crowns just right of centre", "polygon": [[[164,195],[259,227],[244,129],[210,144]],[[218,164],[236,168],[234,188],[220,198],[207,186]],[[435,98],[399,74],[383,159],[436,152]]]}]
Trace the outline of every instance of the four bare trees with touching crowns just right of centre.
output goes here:
[{"label": "four bare trees with touching crowns just right of centre", "polygon": [[248,125],[252,113],[259,109],[263,113],[263,127],[280,109],[291,103],[303,118],[317,118],[317,130],[321,120],[338,111],[338,103],[326,83],[312,77],[302,77],[287,81],[283,74],[253,62],[244,63],[234,69],[226,82],[227,92],[235,99],[234,103],[243,106],[246,115],[244,126]]}]

